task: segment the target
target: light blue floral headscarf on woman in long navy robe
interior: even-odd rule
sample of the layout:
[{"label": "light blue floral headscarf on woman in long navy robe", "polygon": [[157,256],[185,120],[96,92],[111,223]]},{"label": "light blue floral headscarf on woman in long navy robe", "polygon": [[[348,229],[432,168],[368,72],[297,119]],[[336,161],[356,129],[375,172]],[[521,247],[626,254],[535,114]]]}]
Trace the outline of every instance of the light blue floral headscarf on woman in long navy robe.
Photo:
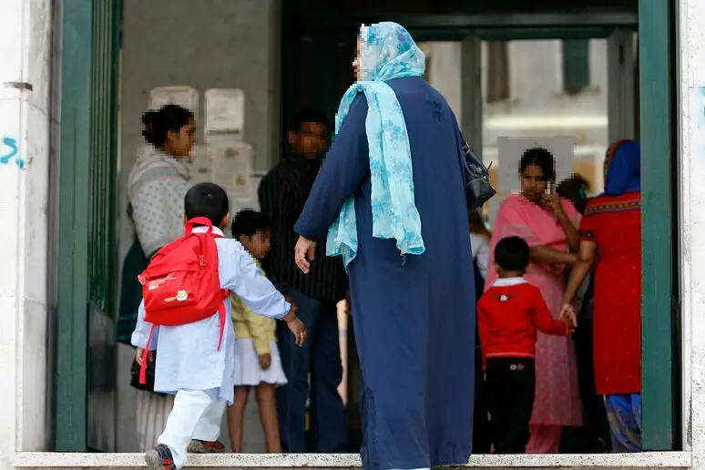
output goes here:
[{"label": "light blue floral headscarf on woman in long navy robe", "polygon": [[[414,202],[414,176],[409,136],[402,107],[386,80],[423,77],[425,56],[414,39],[396,23],[377,23],[360,30],[362,80],[342,97],[335,116],[335,132],[358,93],[367,98],[365,130],[370,148],[373,237],[394,239],[404,260],[406,254],[424,253],[421,217]],[[357,221],[354,197],[343,204],[341,214],[328,230],[326,254],[342,255],[347,269],[357,253]],[[403,261],[404,262],[404,261]]]}]

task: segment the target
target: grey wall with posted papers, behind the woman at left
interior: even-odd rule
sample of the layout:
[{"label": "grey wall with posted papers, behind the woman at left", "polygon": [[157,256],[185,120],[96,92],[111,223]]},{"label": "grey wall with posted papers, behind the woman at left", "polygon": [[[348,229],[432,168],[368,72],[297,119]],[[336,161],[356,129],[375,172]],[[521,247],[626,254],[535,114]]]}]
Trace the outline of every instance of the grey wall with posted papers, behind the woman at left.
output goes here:
[{"label": "grey wall with posted papers, behind the woman at left", "polygon": [[[244,138],[255,148],[254,169],[279,158],[279,2],[276,0],[124,0],[121,152],[120,260],[132,240],[125,220],[129,169],[142,145],[140,117],[154,87],[188,85],[202,93],[212,87],[245,90]],[[198,4],[198,5],[196,5]],[[199,140],[202,140],[199,127]],[[120,346],[118,437],[120,452],[136,449],[134,393],[127,385],[131,349]],[[264,450],[257,407],[250,405],[245,449]],[[227,434],[224,434],[227,440]]]}]

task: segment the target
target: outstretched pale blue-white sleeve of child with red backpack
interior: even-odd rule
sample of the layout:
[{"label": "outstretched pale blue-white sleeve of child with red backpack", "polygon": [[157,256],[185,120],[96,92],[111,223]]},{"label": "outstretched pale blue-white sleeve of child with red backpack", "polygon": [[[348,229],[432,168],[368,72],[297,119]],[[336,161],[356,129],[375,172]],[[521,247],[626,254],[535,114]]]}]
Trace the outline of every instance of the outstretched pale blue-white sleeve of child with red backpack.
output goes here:
[{"label": "outstretched pale blue-white sleeve of child with red backpack", "polygon": [[219,239],[220,285],[238,294],[252,311],[281,319],[291,309],[289,302],[271,282],[237,240]]}]

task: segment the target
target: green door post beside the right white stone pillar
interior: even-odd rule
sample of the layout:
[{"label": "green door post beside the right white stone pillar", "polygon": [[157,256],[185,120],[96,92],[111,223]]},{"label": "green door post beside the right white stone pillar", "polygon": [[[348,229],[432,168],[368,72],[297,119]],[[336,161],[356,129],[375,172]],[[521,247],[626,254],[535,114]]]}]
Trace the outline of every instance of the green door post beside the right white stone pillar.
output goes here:
[{"label": "green door post beside the right white stone pillar", "polygon": [[[639,0],[639,102],[642,204],[642,440],[644,450],[671,450],[678,423],[674,393],[673,215],[676,154],[671,2]],[[677,230],[677,229],[676,229]],[[671,380],[667,380],[671,378]]]}]

